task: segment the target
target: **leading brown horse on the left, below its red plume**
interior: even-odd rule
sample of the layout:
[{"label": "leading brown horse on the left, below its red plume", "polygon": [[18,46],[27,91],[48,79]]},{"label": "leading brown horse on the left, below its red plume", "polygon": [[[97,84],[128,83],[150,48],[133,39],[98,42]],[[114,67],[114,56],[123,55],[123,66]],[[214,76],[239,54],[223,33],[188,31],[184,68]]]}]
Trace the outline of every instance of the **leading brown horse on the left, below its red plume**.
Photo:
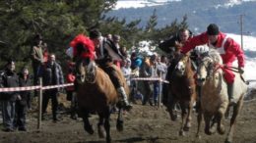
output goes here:
[{"label": "leading brown horse on the left, below its red plume", "polygon": [[[128,95],[128,86],[125,82],[125,78],[122,72],[111,65],[116,71],[120,79],[123,81],[124,88]],[[94,133],[94,129],[89,121],[89,114],[96,112],[99,121],[97,124],[97,131],[99,137],[105,137],[106,142],[111,142],[110,137],[110,114],[113,107],[118,103],[117,91],[111,82],[109,76],[96,66],[95,61],[85,59],[79,65],[79,71],[81,73],[78,78],[78,105],[80,108],[80,115],[84,121],[84,128],[90,134]],[[120,106],[117,106],[118,108]],[[123,130],[123,110],[119,108],[117,118],[117,130]]]}]

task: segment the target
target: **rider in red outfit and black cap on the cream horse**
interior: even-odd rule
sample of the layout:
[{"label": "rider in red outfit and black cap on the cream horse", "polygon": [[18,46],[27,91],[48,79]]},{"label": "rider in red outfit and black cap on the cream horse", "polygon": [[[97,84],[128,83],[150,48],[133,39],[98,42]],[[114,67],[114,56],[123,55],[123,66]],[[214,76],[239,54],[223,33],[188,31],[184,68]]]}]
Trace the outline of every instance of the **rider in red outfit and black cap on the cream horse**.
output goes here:
[{"label": "rider in red outfit and black cap on the cream horse", "polygon": [[[221,54],[224,65],[227,67],[231,67],[232,63],[237,59],[238,71],[240,73],[244,72],[244,53],[240,45],[220,31],[217,24],[209,24],[207,31],[188,40],[181,48],[181,53],[186,54],[194,47],[203,44],[208,44],[210,48],[217,49]],[[230,105],[237,102],[233,98],[234,76],[232,71],[224,71],[224,79],[227,83],[227,94]]]}]

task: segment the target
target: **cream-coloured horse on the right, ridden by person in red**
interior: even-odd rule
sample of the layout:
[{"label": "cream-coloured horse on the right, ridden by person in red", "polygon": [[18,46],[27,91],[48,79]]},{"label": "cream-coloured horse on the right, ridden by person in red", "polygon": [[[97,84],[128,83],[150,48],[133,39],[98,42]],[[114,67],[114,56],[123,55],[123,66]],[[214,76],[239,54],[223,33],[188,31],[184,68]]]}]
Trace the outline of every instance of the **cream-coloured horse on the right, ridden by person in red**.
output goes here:
[{"label": "cream-coloured horse on the right, ridden by person in red", "polygon": [[[207,45],[204,45],[207,46]],[[228,106],[227,84],[224,81],[223,60],[218,51],[211,49],[207,56],[203,57],[197,73],[197,83],[201,86],[201,109],[198,114],[198,129],[196,136],[200,137],[200,125],[202,117],[205,119],[205,133],[208,135],[216,131],[215,124],[220,134],[224,134],[224,115]],[[234,125],[239,114],[243,98],[246,94],[247,86],[242,81],[240,74],[235,73],[234,79],[234,98],[237,104],[233,106],[233,113],[230,119],[230,128],[225,142],[230,143],[233,140]]]}]

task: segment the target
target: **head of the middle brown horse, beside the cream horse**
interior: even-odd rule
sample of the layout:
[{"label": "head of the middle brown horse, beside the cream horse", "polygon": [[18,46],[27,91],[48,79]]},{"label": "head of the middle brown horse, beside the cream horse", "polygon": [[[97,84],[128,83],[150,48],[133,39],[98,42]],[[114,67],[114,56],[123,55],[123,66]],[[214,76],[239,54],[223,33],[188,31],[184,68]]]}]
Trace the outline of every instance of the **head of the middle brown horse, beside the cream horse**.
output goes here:
[{"label": "head of the middle brown horse, beside the cream horse", "polygon": [[182,55],[182,54],[179,54],[179,57],[178,57],[178,62],[176,64],[176,67],[174,69],[174,73],[178,76],[182,76],[185,74],[185,71],[187,69],[187,66],[190,62],[190,59],[189,59],[189,56],[188,55]]}]

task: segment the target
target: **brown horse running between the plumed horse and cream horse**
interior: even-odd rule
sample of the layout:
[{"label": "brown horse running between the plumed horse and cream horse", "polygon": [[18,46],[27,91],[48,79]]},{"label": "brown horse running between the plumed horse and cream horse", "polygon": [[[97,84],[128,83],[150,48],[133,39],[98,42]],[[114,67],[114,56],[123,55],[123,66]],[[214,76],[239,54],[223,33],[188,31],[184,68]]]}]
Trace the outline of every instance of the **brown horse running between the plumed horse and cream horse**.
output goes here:
[{"label": "brown horse running between the plumed horse and cream horse", "polygon": [[176,54],[169,70],[170,94],[168,94],[167,109],[171,119],[175,120],[177,119],[177,115],[174,106],[179,103],[182,117],[179,134],[184,135],[184,131],[188,131],[191,127],[190,121],[193,104],[197,98],[191,59],[188,55]]}]

